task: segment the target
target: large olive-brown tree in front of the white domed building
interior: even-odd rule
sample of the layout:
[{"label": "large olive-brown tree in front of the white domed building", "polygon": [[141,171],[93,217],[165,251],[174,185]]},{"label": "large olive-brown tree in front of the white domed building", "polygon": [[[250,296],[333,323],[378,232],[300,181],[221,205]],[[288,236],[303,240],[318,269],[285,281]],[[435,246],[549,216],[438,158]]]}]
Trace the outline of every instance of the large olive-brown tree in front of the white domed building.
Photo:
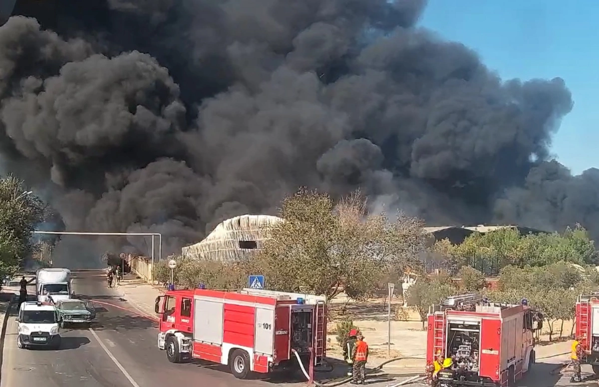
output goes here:
[{"label": "large olive-brown tree in front of the white domed building", "polygon": [[416,255],[426,237],[414,218],[369,214],[359,192],[335,205],[326,193],[302,189],[283,200],[280,216],[285,222],[273,226],[253,264],[270,289],[305,289],[328,300],[343,287],[351,297],[368,297],[389,267]]}]

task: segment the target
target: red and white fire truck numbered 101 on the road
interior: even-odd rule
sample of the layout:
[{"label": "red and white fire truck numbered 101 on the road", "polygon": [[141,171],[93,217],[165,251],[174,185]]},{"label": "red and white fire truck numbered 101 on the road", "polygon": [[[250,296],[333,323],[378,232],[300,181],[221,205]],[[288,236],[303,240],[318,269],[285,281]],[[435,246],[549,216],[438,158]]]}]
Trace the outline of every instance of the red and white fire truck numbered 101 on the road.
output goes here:
[{"label": "red and white fire truck numbered 101 on the road", "polygon": [[170,362],[204,359],[229,365],[238,379],[326,355],[326,297],[242,289],[168,291],[156,298],[159,349]]}]

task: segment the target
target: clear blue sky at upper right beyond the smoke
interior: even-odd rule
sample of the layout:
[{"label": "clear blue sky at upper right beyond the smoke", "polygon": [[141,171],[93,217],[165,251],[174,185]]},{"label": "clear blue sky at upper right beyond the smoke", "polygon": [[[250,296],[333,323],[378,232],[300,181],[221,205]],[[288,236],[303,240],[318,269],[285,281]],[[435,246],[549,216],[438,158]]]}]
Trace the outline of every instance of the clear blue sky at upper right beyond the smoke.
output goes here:
[{"label": "clear blue sky at upper right beyond the smoke", "polygon": [[476,50],[504,79],[561,77],[574,108],[552,152],[574,174],[599,167],[599,1],[429,0],[420,25]]}]

